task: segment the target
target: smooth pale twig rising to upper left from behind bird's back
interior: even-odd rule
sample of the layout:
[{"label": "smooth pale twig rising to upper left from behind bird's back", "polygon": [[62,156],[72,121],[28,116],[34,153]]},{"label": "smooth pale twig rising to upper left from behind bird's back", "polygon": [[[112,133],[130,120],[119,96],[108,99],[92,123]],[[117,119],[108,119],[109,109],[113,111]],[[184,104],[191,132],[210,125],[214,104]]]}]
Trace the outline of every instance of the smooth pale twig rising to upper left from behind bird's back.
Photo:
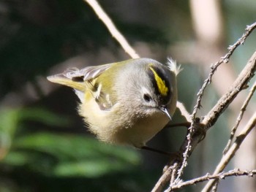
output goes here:
[{"label": "smooth pale twig rising to upper left from behind bird's back", "polygon": [[140,58],[140,56],[135,52],[135,50],[129,45],[127,39],[118,31],[112,20],[108,17],[105,11],[100,7],[96,0],[83,0],[86,1],[94,12],[98,15],[99,19],[105,24],[110,31],[110,34],[118,41],[118,43],[123,47],[125,52],[127,52],[132,58]]}]

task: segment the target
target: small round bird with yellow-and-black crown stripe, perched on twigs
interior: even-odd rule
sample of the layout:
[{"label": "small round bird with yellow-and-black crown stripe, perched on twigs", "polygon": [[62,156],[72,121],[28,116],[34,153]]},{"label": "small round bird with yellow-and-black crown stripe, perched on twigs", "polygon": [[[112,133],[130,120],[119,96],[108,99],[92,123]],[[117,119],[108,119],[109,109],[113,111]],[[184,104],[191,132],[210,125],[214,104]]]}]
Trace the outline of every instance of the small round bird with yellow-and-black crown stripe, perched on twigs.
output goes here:
[{"label": "small round bird with yellow-and-black crown stripe, perched on twigs", "polygon": [[78,112],[99,140],[151,150],[146,142],[176,110],[178,72],[171,58],[166,65],[136,58],[68,69],[47,78],[75,90]]}]

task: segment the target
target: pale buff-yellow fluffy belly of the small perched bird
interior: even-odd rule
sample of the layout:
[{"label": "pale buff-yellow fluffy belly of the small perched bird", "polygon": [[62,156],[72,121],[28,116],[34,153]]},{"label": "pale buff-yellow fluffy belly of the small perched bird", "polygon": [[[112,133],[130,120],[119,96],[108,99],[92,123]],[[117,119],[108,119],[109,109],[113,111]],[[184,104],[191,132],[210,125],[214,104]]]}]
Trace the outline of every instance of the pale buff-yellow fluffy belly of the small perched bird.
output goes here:
[{"label": "pale buff-yellow fluffy belly of the small perched bird", "polygon": [[[131,120],[129,115],[118,115],[113,111],[102,111],[93,99],[80,105],[80,115],[89,124],[89,130],[103,142],[143,147],[168,123],[169,118],[163,112]],[[97,106],[97,107],[95,107]],[[118,104],[115,105],[118,109]],[[113,109],[115,110],[115,109]]]}]

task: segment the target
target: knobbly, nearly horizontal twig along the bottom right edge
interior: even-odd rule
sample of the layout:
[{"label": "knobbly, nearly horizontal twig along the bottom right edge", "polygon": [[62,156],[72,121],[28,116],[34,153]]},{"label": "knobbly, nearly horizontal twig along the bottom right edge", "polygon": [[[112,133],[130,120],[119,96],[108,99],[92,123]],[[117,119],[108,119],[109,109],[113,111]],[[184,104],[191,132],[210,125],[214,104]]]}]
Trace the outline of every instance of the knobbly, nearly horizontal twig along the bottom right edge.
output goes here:
[{"label": "knobbly, nearly horizontal twig along the bottom right edge", "polygon": [[186,182],[181,182],[178,183],[177,185],[173,185],[172,188],[168,188],[168,191],[170,190],[176,190],[178,188],[183,188],[184,186],[189,186],[189,185],[195,185],[197,183],[203,182],[203,181],[208,181],[208,180],[224,180],[225,177],[230,177],[230,176],[242,176],[242,175],[247,175],[249,177],[253,177],[253,175],[256,174],[256,169],[250,170],[250,171],[243,171],[239,169],[233,169],[228,172],[221,172],[218,174],[206,174],[202,177],[197,177],[193,180],[188,180]]}]

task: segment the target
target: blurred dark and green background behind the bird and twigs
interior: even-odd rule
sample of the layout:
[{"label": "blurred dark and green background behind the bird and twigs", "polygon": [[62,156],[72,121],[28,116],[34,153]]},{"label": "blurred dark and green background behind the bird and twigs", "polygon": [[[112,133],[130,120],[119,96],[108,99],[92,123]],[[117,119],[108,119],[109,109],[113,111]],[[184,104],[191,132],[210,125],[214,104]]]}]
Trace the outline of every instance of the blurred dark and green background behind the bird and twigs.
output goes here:
[{"label": "blurred dark and green background behind the bird and twigs", "polygon": [[[211,64],[256,21],[255,0],[111,1],[99,4],[141,57],[181,64],[178,100],[192,112]],[[255,52],[254,31],[206,89],[206,115]],[[45,77],[69,67],[107,64],[129,55],[82,0],[0,0],[0,191],[150,191],[165,155],[110,146],[89,133],[70,88]],[[255,81],[252,79],[251,83]],[[248,94],[243,91],[189,158],[183,179],[213,172]],[[240,128],[255,112],[249,103]],[[184,122],[177,110],[173,123]],[[240,129],[239,129],[240,130]],[[238,130],[238,131],[239,131]],[[176,151],[186,128],[165,128],[148,142]],[[255,169],[255,130],[228,169]],[[256,191],[255,177],[221,181],[219,191]],[[185,191],[200,191],[198,184]]]}]

